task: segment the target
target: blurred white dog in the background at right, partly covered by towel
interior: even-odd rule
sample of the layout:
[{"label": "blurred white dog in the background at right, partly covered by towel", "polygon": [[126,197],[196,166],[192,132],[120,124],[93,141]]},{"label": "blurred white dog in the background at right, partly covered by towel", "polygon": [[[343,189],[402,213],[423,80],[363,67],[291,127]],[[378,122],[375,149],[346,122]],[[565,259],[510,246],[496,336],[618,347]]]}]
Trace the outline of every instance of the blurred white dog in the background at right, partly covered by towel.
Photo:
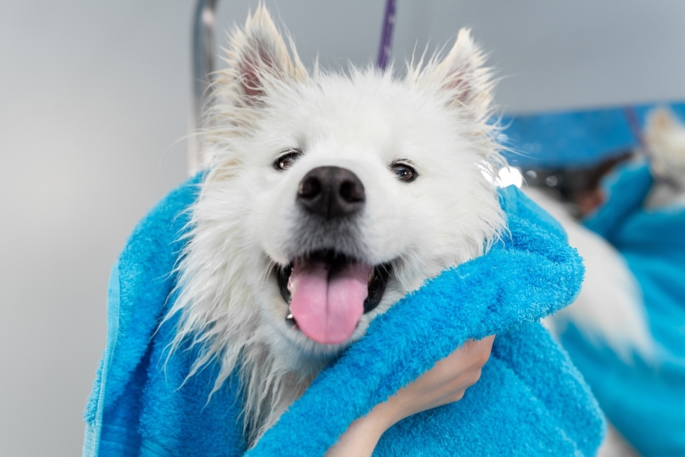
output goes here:
[{"label": "blurred white dog in the background at right, partly covered by towel", "polygon": [[[685,125],[673,112],[657,108],[647,115],[645,149],[634,159],[649,160],[656,182],[645,197],[645,208],[685,206]],[[564,227],[569,244],[584,258],[586,279],[575,302],[543,319],[552,334],[564,331],[571,322],[593,343],[608,345],[627,365],[633,354],[658,366],[658,342],[649,328],[640,286],[625,259],[607,240],[572,217],[568,203],[540,188],[525,193]],[[600,457],[631,457],[637,452],[609,424]]]}]

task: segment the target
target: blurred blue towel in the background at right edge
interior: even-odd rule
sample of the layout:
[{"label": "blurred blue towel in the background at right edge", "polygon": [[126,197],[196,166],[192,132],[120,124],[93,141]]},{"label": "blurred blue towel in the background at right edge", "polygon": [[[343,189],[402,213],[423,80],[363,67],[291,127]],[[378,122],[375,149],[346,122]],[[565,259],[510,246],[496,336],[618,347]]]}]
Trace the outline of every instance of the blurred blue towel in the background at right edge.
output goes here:
[{"label": "blurred blue towel in the background at right edge", "polygon": [[623,362],[573,326],[564,348],[601,408],[645,457],[685,456],[685,208],[643,208],[653,178],[645,164],[625,166],[605,183],[608,199],[585,221],[625,258],[638,280],[656,362]]}]

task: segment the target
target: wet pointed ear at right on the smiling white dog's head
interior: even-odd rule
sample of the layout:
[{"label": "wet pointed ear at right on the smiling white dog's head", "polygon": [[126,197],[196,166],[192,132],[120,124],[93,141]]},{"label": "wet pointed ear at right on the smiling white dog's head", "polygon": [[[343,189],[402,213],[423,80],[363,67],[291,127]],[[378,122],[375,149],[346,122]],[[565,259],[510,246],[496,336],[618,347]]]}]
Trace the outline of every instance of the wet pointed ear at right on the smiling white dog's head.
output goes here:
[{"label": "wet pointed ear at right on the smiling white dog's head", "polygon": [[[423,59],[422,59],[423,60]],[[460,29],[454,46],[442,61],[434,56],[422,71],[410,71],[419,86],[434,88],[453,108],[466,108],[475,119],[490,115],[493,102],[492,70],[486,55],[475,45],[469,29]],[[421,66],[421,62],[419,62]]]}]

